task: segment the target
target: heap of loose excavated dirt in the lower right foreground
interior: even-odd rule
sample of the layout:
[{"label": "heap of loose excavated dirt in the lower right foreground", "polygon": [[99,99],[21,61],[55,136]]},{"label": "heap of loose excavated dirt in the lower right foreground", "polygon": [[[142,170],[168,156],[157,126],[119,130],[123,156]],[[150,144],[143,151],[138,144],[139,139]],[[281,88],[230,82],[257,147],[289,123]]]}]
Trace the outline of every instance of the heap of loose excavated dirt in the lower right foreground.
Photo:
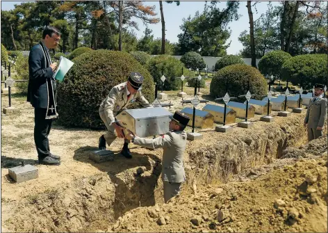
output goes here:
[{"label": "heap of loose excavated dirt in the lower right foreground", "polygon": [[129,211],[108,231],[327,232],[327,156],[253,181],[183,191],[169,204]]}]

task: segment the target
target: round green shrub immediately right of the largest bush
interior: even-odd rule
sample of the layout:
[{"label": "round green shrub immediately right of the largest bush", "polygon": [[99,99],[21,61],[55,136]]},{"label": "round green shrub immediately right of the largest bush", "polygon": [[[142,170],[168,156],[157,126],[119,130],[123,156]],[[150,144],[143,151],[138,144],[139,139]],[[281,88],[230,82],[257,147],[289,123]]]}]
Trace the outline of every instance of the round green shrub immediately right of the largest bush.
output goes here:
[{"label": "round green shrub immediately right of the largest bush", "polygon": [[[158,83],[158,90],[162,87],[162,72],[166,78],[163,84],[163,90],[178,90],[181,88],[181,77],[183,63],[170,55],[159,55],[149,59],[147,70],[154,77],[154,81]],[[193,77],[194,75],[186,67],[183,68],[184,77]],[[183,83],[186,83],[183,81]]]}]

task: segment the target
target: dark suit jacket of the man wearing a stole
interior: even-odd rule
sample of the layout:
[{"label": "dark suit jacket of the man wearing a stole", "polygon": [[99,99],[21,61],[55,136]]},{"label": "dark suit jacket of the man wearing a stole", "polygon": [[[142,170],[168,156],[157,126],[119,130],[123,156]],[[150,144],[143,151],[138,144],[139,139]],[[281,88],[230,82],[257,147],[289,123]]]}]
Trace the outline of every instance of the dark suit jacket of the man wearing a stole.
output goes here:
[{"label": "dark suit jacket of the man wearing a stole", "polygon": [[[54,79],[51,79],[54,72],[51,67],[49,67],[50,61],[47,60],[47,57],[44,57],[44,52],[40,45],[41,44],[38,44],[32,47],[30,55],[28,56],[29,80],[27,101],[31,102],[32,106],[35,108],[47,109],[48,92],[46,81],[52,81],[53,86],[56,86],[56,83],[54,83]],[[44,45],[42,44],[42,46]],[[45,46],[44,50],[47,52]]]}]

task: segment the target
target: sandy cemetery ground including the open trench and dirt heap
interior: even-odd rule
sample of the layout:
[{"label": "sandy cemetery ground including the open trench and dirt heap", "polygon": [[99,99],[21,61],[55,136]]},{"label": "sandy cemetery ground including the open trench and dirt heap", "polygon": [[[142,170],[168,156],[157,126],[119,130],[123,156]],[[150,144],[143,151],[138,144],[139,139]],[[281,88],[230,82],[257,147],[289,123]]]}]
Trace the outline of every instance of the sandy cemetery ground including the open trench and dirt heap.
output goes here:
[{"label": "sandy cemetery ground including the open trench and dirt heap", "polygon": [[[193,88],[183,90],[191,99]],[[181,105],[179,91],[165,91],[172,112],[191,107]],[[208,85],[200,91],[214,104]],[[104,131],[55,121],[49,143],[62,163],[39,165],[33,108],[24,95],[12,102],[15,114],[1,113],[2,232],[327,232],[327,137],[306,143],[305,111],[288,118],[272,111],[271,123],[256,115],[252,129],[229,134],[195,129],[204,138],[188,141],[187,181],[163,204],[163,150],[131,145],[133,159],[125,159],[123,140],[115,140],[114,161],[94,163],[89,154]],[[38,179],[8,177],[21,161],[38,167]]]}]

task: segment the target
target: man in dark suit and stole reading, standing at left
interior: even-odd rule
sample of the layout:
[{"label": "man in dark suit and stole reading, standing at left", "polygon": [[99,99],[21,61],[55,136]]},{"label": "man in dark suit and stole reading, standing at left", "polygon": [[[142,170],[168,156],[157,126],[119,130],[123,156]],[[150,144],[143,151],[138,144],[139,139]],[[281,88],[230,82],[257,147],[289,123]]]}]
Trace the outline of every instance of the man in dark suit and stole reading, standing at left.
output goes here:
[{"label": "man in dark suit and stole reading, standing at left", "polygon": [[55,49],[60,40],[60,32],[47,26],[42,40],[35,45],[28,56],[27,101],[34,107],[34,141],[39,163],[59,165],[60,156],[51,154],[49,132],[52,119],[58,117],[56,109],[56,81],[53,78],[57,63],[51,63],[49,49]]}]

